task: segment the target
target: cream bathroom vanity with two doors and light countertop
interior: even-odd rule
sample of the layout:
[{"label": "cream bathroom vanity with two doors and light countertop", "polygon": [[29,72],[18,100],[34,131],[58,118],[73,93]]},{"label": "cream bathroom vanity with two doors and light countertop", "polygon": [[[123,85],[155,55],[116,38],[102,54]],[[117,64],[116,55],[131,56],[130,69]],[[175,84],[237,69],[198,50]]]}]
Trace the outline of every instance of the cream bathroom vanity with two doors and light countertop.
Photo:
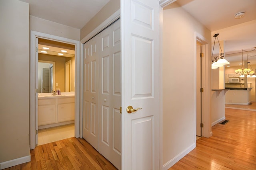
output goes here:
[{"label": "cream bathroom vanity with two doors and light countertop", "polygon": [[38,129],[74,123],[75,96],[73,93],[62,93],[52,96],[38,95]]}]

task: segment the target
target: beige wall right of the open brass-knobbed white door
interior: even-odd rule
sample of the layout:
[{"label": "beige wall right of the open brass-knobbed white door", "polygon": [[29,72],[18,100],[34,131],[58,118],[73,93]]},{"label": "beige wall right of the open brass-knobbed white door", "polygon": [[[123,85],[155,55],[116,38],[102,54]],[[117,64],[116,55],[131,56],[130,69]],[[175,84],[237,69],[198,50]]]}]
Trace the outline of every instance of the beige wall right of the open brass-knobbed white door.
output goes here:
[{"label": "beige wall right of the open brass-knobbed white door", "polygon": [[176,3],[163,10],[163,164],[195,144],[196,38],[211,32]]}]

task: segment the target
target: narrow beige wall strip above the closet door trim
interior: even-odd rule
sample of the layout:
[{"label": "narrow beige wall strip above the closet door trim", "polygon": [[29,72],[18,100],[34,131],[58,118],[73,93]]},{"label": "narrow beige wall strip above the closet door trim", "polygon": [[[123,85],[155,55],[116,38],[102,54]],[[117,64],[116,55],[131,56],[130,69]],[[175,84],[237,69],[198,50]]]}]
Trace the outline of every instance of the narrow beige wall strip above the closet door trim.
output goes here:
[{"label": "narrow beige wall strip above the closet door trim", "polygon": [[110,0],[84,27],[80,32],[80,39],[92,32],[98,25],[109,18],[114,12],[120,9],[120,0]]}]

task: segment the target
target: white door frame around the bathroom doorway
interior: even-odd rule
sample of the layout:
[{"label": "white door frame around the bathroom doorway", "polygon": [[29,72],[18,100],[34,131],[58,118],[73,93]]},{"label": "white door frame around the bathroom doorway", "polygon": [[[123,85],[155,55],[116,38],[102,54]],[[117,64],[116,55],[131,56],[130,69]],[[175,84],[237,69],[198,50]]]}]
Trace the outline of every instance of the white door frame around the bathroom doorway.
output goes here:
[{"label": "white door frame around the bathroom doorway", "polygon": [[[79,56],[80,56],[80,48],[79,48],[79,41],[72,40],[72,39],[66,39],[64,37],[58,37],[54,35],[49,35],[45,33],[40,33],[36,31],[31,31],[31,36],[30,36],[30,149],[34,149],[36,147],[36,134],[38,133],[38,120],[37,120],[37,106],[38,106],[38,71],[36,68],[38,67],[38,49],[36,50],[36,39],[45,39],[49,41],[56,41],[57,43],[66,43],[69,45],[73,45],[75,49],[75,58],[74,58],[74,75],[76,78],[74,78],[73,84],[79,84],[80,82],[80,64],[79,64]],[[65,61],[66,62],[66,61]],[[64,63],[65,63],[64,62]],[[65,67],[65,64],[64,64]],[[63,90],[64,92],[64,76],[63,76],[63,83],[60,85],[63,85]],[[54,81],[54,80],[53,80]],[[53,83],[53,90],[55,90],[57,87],[56,85],[59,85],[58,82]],[[80,88],[79,87],[74,87],[74,97],[76,101],[79,101],[80,98]],[[74,105],[74,136],[75,137],[80,137],[80,119],[79,119],[79,102],[76,102]],[[64,119],[62,117],[62,119]]]}]

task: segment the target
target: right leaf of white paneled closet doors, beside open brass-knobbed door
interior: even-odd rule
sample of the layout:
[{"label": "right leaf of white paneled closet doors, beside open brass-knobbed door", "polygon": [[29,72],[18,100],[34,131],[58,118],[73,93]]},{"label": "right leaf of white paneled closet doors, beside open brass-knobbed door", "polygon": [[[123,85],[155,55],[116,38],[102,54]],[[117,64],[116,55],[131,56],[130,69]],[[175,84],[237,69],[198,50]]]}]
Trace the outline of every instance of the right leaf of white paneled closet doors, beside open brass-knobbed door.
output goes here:
[{"label": "right leaf of white paneled closet doors, beside open brass-knobbed door", "polygon": [[121,169],[120,20],[99,34],[99,152]]}]

